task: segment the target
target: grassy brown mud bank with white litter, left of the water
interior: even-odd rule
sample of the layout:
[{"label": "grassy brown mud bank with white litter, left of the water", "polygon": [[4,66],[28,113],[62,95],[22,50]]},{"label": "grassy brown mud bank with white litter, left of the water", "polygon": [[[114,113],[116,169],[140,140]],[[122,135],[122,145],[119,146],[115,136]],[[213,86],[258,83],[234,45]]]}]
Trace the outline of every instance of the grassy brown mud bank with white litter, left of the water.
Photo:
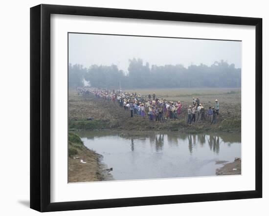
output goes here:
[{"label": "grassy brown mud bank with white litter, left of the water", "polygon": [[88,149],[80,137],[68,134],[68,182],[111,180],[101,160],[102,156]]}]

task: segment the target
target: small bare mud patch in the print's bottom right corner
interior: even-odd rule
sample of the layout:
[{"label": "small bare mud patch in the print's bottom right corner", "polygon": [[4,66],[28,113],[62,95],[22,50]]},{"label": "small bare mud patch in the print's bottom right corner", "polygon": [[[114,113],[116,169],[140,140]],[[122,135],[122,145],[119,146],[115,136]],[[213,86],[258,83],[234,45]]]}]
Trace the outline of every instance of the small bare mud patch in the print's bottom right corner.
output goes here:
[{"label": "small bare mud patch in the print's bottom right corner", "polygon": [[217,176],[241,175],[241,158],[235,158],[231,163],[225,164],[216,170]]}]

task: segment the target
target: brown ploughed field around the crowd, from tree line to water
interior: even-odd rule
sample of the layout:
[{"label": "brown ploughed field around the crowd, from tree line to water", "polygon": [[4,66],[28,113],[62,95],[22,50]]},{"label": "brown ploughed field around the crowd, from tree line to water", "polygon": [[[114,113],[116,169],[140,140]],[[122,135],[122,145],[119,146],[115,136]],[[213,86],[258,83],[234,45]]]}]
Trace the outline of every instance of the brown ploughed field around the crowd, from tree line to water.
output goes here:
[{"label": "brown ploughed field around the crowd, from tree line to water", "polygon": [[[68,94],[69,129],[86,130],[135,130],[135,131],[182,131],[187,133],[224,131],[240,133],[241,131],[241,89],[129,89],[130,93],[140,93],[144,98],[155,92],[157,98],[167,101],[179,101],[183,105],[178,119],[167,119],[165,122],[150,121],[147,116],[130,118],[130,111],[125,111],[117,102],[104,101],[90,95],[84,98],[75,89]],[[205,111],[220,102],[220,115],[217,123],[209,121],[186,123],[187,108],[192,105],[192,98],[200,98]],[[87,120],[91,118],[91,120]],[[93,119],[93,120],[92,120]]]}]

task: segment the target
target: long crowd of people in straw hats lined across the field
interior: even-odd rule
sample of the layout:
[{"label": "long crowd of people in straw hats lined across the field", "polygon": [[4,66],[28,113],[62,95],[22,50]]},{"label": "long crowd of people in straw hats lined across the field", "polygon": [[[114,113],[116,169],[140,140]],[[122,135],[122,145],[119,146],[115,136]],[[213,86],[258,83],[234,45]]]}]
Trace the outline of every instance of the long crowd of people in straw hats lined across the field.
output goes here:
[{"label": "long crowd of people in straw hats lined across the field", "polygon": [[[130,117],[134,115],[142,118],[148,117],[151,121],[163,122],[167,119],[177,119],[182,112],[180,101],[166,101],[163,98],[157,98],[156,94],[149,94],[142,97],[141,94],[122,92],[122,90],[103,90],[98,88],[77,88],[78,94],[88,96],[94,95],[96,98],[102,98],[106,101],[117,102],[119,107],[130,111]],[[192,98],[192,105],[187,109],[187,123],[206,121],[215,124],[217,115],[219,115],[219,101],[215,100],[215,106],[209,107],[207,113],[200,102],[200,98]]]}]

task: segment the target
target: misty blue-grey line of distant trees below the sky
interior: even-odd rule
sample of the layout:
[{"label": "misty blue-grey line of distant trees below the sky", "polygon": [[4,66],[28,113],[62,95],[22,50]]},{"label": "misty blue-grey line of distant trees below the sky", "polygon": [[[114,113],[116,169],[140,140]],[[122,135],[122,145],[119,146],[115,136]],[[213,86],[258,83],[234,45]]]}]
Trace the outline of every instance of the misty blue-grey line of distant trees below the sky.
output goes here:
[{"label": "misty blue-grey line of distant trees below the sky", "polygon": [[241,87],[241,68],[221,60],[210,67],[204,64],[185,68],[181,64],[149,66],[142,59],[130,59],[128,73],[111,66],[69,65],[69,87],[84,85],[98,88],[238,88]]}]

